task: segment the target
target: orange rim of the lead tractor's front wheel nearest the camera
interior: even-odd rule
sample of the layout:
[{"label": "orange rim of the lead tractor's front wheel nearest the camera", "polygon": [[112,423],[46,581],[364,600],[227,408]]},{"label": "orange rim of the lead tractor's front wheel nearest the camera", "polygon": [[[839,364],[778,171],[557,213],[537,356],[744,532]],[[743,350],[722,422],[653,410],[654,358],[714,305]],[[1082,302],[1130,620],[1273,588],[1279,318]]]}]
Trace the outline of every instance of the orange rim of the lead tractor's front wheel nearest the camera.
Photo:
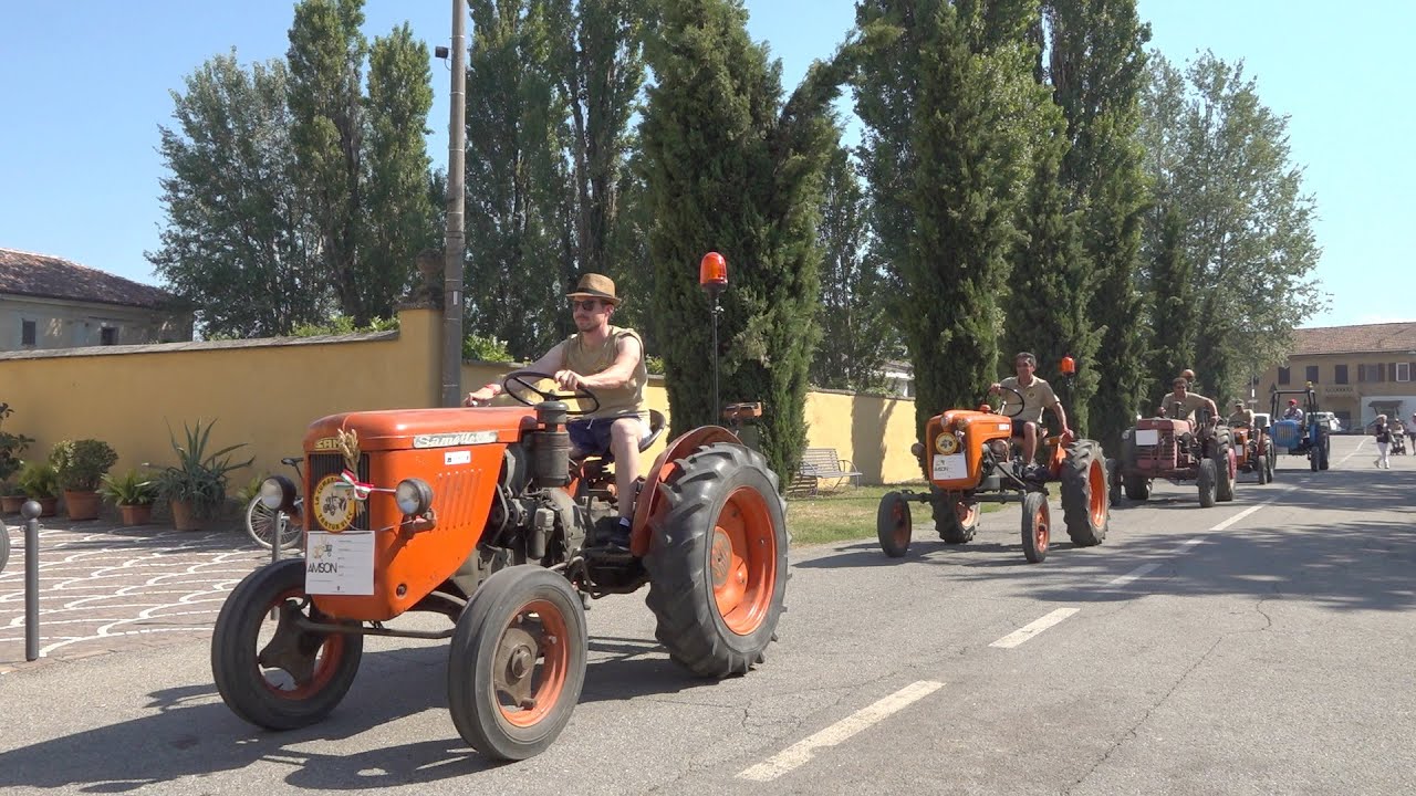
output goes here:
[{"label": "orange rim of the lead tractor's front wheel nearest the camera", "polygon": [[565,615],[551,601],[525,603],[503,627],[493,661],[501,718],[514,727],[535,725],[555,708],[571,673]]}]

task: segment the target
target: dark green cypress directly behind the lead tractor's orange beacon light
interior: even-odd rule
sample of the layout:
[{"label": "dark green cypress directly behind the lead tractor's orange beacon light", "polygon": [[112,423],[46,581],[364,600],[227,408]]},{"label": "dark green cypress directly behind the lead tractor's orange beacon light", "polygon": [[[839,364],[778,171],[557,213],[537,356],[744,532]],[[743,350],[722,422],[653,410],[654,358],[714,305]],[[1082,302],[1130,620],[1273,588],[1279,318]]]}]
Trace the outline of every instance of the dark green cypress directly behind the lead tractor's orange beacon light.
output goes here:
[{"label": "dark green cypress directly behind the lead tractor's orange beacon light", "polygon": [[[780,64],[746,31],[739,0],[660,7],[646,57],[656,82],[643,136],[654,322],[675,433],[718,422],[722,401],[762,401],[762,449],[793,472],[806,442],[807,365],[817,341],[820,245],[816,214],[833,137],[840,64],[817,62],[783,103]],[[697,266],[728,259],[721,346]]]}]

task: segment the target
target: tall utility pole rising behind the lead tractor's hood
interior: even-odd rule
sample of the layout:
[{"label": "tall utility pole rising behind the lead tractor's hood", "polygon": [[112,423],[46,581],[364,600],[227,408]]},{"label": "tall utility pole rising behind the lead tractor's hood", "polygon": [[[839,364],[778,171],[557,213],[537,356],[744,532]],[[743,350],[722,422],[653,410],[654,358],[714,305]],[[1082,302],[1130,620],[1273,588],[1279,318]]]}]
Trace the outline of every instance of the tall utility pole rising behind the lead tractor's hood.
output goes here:
[{"label": "tall utility pole rising behind the lead tractor's hood", "polygon": [[462,263],[467,156],[467,4],[452,0],[452,110],[447,119],[447,237],[443,242],[442,405],[462,405]]}]

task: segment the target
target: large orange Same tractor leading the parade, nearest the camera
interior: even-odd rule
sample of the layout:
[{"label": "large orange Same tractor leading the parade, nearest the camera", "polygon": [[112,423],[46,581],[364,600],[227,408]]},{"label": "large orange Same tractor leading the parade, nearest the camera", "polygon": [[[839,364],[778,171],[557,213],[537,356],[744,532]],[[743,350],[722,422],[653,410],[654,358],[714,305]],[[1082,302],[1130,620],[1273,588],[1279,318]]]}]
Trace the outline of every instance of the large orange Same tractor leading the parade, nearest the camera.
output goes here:
[{"label": "large orange Same tractor leading the parade, nearest the camera", "polygon": [[[525,406],[348,412],[304,438],[306,555],[248,575],[217,619],[211,666],[241,718],[290,729],[348,691],[365,636],[450,639],[447,705],[496,759],[545,749],[586,673],[589,599],[649,585],[656,637],[701,677],[763,660],[786,592],[777,477],[728,429],[668,443],[637,494],[615,494],[609,457],[571,457],[568,416],[589,391],[545,392],[513,374]],[[571,409],[576,399],[588,409]],[[663,433],[653,412],[647,449]],[[293,511],[296,484],[262,484]],[[634,500],[627,551],[602,545]],[[385,625],[442,613],[446,630]]]}]

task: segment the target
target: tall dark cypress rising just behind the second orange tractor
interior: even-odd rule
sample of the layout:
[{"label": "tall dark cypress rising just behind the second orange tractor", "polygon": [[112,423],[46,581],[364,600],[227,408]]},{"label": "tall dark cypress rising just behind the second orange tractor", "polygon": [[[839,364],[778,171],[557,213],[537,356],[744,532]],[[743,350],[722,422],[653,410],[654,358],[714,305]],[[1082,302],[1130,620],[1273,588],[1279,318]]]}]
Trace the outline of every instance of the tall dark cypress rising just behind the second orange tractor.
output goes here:
[{"label": "tall dark cypress rising just behind the second orange tractor", "polygon": [[915,364],[916,425],[995,380],[1028,173],[1031,3],[862,0],[855,110],[874,228]]}]

